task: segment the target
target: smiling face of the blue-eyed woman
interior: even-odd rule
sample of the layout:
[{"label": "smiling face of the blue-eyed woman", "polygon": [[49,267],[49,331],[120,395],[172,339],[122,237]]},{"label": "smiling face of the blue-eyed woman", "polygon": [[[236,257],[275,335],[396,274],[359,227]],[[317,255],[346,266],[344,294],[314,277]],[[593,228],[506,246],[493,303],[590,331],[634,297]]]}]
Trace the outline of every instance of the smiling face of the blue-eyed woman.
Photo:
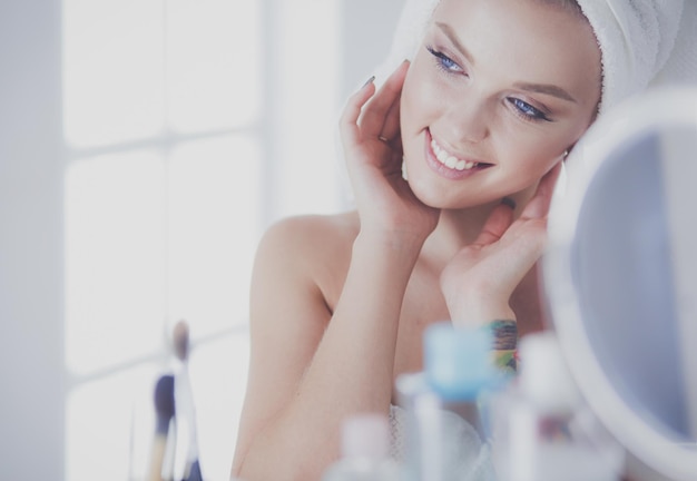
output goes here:
[{"label": "smiling face of the blue-eyed woman", "polygon": [[536,0],[441,0],[402,90],[412,190],[440,208],[523,200],[599,98],[583,18]]}]

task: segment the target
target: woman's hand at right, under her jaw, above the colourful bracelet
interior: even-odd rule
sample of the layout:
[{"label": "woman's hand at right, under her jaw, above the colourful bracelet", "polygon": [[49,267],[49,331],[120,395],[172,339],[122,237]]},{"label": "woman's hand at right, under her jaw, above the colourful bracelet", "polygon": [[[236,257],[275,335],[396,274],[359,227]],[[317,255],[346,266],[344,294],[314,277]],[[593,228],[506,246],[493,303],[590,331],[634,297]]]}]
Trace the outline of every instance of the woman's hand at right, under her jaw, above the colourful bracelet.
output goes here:
[{"label": "woman's hand at right, under her jaw, above the colourful bracelet", "polygon": [[473,244],[463,247],[441,273],[441,291],[455,324],[516,320],[510,298],[540,258],[547,243],[547,215],[561,165],[540,180],[520,217],[502,203]]}]

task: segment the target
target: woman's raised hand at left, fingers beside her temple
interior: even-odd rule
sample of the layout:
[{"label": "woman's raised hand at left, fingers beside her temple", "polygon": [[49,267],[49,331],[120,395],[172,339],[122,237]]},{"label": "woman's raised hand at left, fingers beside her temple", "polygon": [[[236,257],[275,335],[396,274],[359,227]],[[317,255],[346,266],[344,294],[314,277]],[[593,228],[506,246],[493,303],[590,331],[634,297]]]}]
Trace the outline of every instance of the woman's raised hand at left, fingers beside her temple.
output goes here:
[{"label": "woman's raised hand at left, fingers beside her temple", "polygon": [[422,243],[435,228],[439,210],[419,200],[402,177],[400,98],[408,69],[404,61],[380,90],[371,79],[351,96],[340,131],[361,232]]}]

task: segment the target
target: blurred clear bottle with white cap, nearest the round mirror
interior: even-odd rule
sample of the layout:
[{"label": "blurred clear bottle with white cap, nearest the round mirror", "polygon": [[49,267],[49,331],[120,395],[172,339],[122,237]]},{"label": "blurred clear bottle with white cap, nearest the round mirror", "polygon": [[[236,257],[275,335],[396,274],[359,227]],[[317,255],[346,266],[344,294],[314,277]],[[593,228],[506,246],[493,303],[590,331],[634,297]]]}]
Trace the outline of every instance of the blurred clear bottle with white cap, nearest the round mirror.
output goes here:
[{"label": "blurred clear bottle with white cap, nearest the round mirror", "polygon": [[624,451],[586,406],[551,331],[519,342],[519,374],[490,404],[499,481],[618,481]]}]

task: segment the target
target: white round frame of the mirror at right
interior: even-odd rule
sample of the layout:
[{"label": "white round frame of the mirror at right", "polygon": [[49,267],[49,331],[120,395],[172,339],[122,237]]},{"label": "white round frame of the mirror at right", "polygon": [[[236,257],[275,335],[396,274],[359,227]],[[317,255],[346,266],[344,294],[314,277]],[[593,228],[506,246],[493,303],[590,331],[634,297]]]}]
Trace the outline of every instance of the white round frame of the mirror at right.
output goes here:
[{"label": "white round frame of the mirror at right", "polygon": [[[572,259],[577,220],[601,165],[641,136],[670,127],[689,127],[697,136],[697,86],[664,87],[625,101],[600,117],[566,161],[567,180],[549,214],[549,244],[541,259],[542,287],[551,327],[583,397],[630,457],[675,480],[697,479],[697,443],[678,443],[646,422],[625,402],[595,355],[573,286]],[[696,153],[697,157],[697,153]],[[697,160],[697,159],[695,159]],[[694,323],[697,326],[697,322]],[[693,327],[697,338],[697,327]],[[695,367],[694,357],[690,361]],[[688,399],[694,396],[688,394]],[[655,479],[655,478],[651,478]]]}]

